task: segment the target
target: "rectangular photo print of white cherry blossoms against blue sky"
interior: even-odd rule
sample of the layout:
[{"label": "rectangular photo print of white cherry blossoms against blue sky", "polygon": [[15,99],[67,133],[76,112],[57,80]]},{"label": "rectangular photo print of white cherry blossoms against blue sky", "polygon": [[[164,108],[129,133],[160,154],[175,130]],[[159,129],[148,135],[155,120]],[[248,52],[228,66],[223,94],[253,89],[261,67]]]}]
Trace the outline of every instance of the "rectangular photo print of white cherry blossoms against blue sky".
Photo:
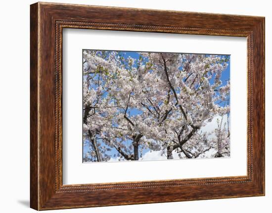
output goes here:
[{"label": "rectangular photo print of white cherry blossoms against blue sky", "polygon": [[229,157],[229,55],[83,50],[83,163]]}]

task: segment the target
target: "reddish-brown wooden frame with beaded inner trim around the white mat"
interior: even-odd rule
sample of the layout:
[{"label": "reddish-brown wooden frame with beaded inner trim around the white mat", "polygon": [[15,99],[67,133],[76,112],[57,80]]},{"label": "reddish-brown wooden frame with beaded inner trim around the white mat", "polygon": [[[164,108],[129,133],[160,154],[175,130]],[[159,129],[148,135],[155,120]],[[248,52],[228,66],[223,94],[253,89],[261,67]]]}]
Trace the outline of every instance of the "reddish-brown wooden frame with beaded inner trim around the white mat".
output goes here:
[{"label": "reddish-brown wooden frame with beaded inner trim around the white mat", "polygon": [[[265,18],[59,3],[30,11],[30,206],[35,210],[265,195]],[[62,184],[62,29],[247,38],[247,175]]]}]

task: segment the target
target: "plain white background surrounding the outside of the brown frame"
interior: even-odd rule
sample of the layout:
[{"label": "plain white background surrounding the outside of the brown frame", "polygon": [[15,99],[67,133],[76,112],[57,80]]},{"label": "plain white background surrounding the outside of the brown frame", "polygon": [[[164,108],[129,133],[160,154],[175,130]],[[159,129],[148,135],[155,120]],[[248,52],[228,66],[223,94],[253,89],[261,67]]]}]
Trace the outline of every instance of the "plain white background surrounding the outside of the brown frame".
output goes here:
[{"label": "plain white background surrounding the outside of the brown frame", "polygon": [[[0,5],[0,212],[29,209],[29,4],[5,0]],[[60,210],[67,213],[264,212],[272,210],[272,6],[269,0],[51,0],[80,3],[212,12],[266,17],[266,196],[162,204]],[[269,131],[270,130],[270,131]]]}]

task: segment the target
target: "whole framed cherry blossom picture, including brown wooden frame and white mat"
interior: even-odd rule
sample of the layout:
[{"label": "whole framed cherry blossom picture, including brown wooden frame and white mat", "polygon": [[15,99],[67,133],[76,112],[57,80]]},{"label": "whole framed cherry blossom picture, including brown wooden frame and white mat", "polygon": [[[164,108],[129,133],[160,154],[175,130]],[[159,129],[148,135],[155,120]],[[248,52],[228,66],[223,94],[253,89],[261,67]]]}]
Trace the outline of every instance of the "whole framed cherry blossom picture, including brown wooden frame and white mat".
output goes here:
[{"label": "whole framed cherry blossom picture, including brown wooden frame and white mat", "polygon": [[31,208],[265,195],[265,18],[31,5]]}]

